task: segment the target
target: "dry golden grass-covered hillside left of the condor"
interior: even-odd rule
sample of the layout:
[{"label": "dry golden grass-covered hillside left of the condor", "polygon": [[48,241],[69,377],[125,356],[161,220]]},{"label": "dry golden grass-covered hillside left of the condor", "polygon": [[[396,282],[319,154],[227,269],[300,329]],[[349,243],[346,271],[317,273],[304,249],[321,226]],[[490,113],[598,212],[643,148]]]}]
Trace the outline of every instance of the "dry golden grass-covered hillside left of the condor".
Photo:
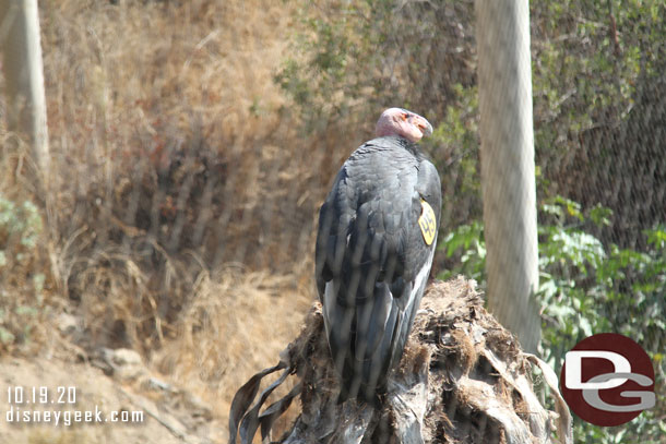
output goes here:
[{"label": "dry golden grass-covered hillside left of the condor", "polygon": [[[273,82],[293,13],[261,0],[40,4],[49,179],[27,179],[21,144],[5,142],[0,165],[8,384],[73,385],[83,409],[154,403],[195,442],[225,439],[235,389],[295,336],[313,298],[311,183],[325,179],[304,172],[307,141]],[[175,392],[107,375],[98,357],[114,349],[138,351]],[[192,422],[175,393],[209,415]],[[178,442],[154,417],[4,421],[0,436]]]}]

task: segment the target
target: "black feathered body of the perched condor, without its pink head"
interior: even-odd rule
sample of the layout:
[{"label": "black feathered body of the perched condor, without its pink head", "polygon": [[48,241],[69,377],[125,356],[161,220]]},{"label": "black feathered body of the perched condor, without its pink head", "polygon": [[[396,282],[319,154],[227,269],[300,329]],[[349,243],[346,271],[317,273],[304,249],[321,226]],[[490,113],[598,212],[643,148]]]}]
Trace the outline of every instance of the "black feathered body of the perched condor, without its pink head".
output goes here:
[{"label": "black feathered body of the perched condor, without its pink head", "polygon": [[402,357],[437,244],[418,219],[425,201],[439,228],[440,187],[416,145],[379,137],[345,161],[320,209],[316,277],[340,401],[376,403]]}]

